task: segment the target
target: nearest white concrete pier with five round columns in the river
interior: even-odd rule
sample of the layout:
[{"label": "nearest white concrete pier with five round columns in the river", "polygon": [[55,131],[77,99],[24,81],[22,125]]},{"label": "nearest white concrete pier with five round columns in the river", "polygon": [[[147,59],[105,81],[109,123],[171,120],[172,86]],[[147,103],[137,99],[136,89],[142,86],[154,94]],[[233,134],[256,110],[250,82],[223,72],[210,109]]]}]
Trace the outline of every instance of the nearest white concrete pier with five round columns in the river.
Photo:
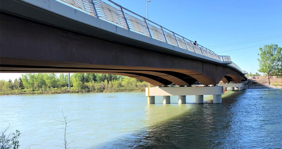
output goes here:
[{"label": "nearest white concrete pier with five round columns in the river", "polygon": [[[178,96],[178,103],[186,103],[186,95],[195,95],[195,103],[204,103],[204,95],[213,95],[213,103],[221,103],[221,95],[223,95],[223,86],[208,86],[208,87],[151,87],[150,97],[162,96],[162,103],[169,104],[170,96]],[[146,88],[146,96],[148,96],[148,88]],[[155,98],[153,98],[155,99]],[[154,103],[155,100],[150,101]],[[148,99],[149,103],[149,99]]]}]

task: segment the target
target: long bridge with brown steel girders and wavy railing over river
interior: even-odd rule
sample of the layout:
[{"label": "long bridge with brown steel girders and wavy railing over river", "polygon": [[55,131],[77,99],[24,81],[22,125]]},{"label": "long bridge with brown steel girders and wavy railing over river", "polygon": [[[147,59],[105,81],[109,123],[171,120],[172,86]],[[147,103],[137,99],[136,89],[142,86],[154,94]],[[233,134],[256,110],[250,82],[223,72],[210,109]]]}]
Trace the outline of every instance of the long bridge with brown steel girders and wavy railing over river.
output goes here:
[{"label": "long bridge with brown steel girders and wavy railing over river", "polygon": [[[1,73],[108,73],[156,86],[199,81],[232,88],[247,81],[230,56],[110,0],[2,0],[0,25]],[[222,86],[206,94],[220,95],[221,102]],[[175,95],[173,90],[162,95]],[[153,94],[152,88],[146,92],[149,101]]]}]

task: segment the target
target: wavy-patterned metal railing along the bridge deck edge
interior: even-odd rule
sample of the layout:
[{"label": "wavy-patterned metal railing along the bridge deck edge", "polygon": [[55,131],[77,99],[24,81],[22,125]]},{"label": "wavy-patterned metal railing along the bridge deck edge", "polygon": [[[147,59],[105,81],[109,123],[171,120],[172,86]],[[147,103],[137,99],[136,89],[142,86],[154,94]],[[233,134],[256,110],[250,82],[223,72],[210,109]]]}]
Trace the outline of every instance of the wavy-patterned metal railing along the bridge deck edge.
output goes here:
[{"label": "wavy-patterned metal railing along the bridge deck edge", "polygon": [[[73,7],[80,11],[86,12],[94,17],[116,24],[117,26],[131,30],[136,33],[143,34],[153,39],[166,42],[168,44],[183,48],[218,61],[231,61],[230,56],[221,56],[215,54],[214,51],[203,47],[191,40],[172,32],[171,30],[130,11],[121,5],[116,4],[111,0],[108,3],[101,0],[57,0]],[[232,66],[241,69],[232,62]]]}]

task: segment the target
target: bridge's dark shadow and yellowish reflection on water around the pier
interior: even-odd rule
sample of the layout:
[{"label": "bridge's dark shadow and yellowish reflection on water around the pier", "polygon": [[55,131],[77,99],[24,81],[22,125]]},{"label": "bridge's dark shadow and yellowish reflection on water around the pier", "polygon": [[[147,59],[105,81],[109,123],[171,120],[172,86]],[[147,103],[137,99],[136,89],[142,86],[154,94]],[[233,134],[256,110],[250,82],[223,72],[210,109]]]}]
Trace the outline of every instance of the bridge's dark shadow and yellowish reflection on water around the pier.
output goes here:
[{"label": "bridge's dark shadow and yellowish reflection on water around the pier", "polygon": [[222,104],[212,104],[209,97],[205,104],[148,105],[146,128],[94,148],[224,148],[230,110],[245,92],[227,92]]}]

